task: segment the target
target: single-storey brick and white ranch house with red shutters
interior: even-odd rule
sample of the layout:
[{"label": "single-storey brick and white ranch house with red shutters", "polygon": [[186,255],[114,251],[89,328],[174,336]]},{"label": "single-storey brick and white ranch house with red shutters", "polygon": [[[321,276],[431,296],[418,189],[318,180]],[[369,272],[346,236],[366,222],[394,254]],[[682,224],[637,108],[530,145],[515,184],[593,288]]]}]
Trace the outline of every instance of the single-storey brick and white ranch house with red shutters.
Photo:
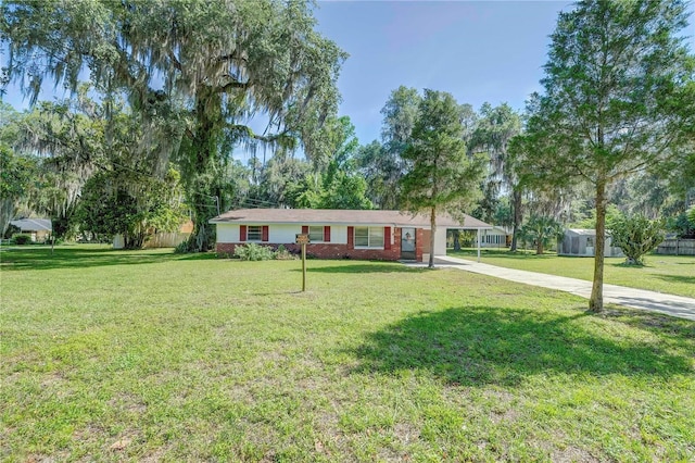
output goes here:
[{"label": "single-storey brick and white ranch house with red shutters", "polygon": [[[210,221],[217,226],[216,251],[233,254],[249,242],[285,246],[298,251],[298,234],[309,236],[309,255],[319,259],[414,260],[430,252],[429,216],[400,211],[328,209],[240,209]],[[434,255],[446,254],[446,229],[491,229],[492,225],[466,215],[464,223],[441,214],[437,218]]]}]

